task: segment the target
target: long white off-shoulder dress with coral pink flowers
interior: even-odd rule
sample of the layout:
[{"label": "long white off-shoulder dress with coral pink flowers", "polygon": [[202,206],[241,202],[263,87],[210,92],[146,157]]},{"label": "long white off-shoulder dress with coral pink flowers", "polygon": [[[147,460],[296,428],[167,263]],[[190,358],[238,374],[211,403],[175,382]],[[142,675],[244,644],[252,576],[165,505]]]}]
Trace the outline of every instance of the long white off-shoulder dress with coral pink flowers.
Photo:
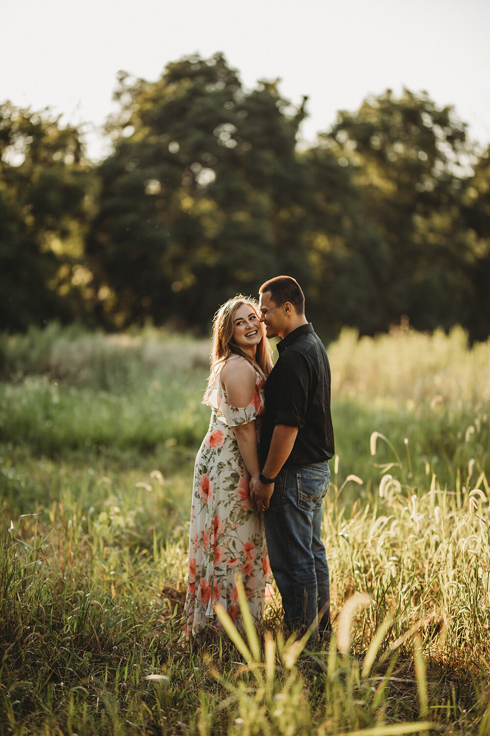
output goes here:
[{"label": "long white off-shoulder dress with coral pink flowers", "polygon": [[218,377],[209,404],[211,422],[195,459],[192,489],[189,586],[184,608],[187,640],[222,631],[214,609],[217,603],[240,625],[237,573],[259,625],[270,572],[262,514],[252,508],[249,475],[233,431],[235,426],[255,420],[259,432],[264,411],[262,379],[256,373],[252,402],[236,408],[228,403]]}]

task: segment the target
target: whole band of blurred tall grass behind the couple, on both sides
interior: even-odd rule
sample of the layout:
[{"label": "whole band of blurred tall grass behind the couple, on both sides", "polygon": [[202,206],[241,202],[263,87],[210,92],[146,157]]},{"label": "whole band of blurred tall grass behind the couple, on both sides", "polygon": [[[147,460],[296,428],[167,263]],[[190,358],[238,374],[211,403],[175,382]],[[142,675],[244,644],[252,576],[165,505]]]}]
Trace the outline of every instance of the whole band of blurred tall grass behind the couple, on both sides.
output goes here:
[{"label": "whole band of blurred tall grass behind the couple, on both sides", "polygon": [[[37,453],[68,450],[118,456],[140,464],[150,453],[167,465],[192,457],[208,422],[201,405],[206,341],[146,330],[90,336],[77,330],[32,330],[0,339],[0,442]],[[469,461],[489,464],[489,345],[469,350],[460,329],[450,336],[395,330],[357,339],[345,330],[328,347],[339,473],[359,475],[370,492],[372,431],[389,437],[407,459],[409,479],[436,472],[448,487]],[[408,440],[408,444],[406,442]],[[378,460],[392,461],[391,450]],[[342,481],[343,482],[343,481]]]}]

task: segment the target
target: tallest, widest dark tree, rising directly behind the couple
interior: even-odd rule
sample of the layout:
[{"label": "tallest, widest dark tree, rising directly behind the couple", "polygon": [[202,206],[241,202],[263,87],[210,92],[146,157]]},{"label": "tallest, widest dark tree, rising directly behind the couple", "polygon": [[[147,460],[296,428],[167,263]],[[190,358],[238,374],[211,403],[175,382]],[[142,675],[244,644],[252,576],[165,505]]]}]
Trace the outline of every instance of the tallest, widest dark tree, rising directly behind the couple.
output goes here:
[{"label": "tallest, widest dark tree, rising directly behind the couple", "polygon": [[[98,169],[90,267],[107,319],[206,326],[237,291],[308,271],[301,233],[307,167],[276,82],[245,93],[221,54],[172,63],[156,82],[120,74],[115,150]],[[103,310],[101,310],[103,311]]]}]

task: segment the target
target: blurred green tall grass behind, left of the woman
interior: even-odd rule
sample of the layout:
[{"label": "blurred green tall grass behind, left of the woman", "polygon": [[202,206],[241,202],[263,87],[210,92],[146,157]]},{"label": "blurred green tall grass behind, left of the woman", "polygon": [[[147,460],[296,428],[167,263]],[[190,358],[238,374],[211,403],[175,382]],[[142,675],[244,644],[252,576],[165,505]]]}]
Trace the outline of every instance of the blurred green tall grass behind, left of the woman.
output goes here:
[{"label": "blurred green tall grass behind, left of the woman", "polygon": [[156,450],[168,457],[203,435],[206,342],[149,330],[46,332],[0,341],[10,377],[0,384],[1,441],[48,456],[115,450],[136,459]]}]

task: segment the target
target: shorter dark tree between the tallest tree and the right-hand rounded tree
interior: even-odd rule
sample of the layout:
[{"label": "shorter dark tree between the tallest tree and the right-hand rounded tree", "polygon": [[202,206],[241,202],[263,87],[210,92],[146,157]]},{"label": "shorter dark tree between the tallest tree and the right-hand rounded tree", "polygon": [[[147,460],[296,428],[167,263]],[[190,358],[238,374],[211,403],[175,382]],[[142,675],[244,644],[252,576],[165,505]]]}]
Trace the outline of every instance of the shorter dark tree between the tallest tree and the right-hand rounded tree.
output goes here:
[{"label": "shorter dark tree between the tallest tree and the right-hand rounded tree", "polygon": [[328,339],[345,325],[372,333],[378,325],[373,274],[380,245],[365,220],[353,169],[324,141],[304,156],[311,177],[302,233],[311,269],[305,291],[315,325]]}]

